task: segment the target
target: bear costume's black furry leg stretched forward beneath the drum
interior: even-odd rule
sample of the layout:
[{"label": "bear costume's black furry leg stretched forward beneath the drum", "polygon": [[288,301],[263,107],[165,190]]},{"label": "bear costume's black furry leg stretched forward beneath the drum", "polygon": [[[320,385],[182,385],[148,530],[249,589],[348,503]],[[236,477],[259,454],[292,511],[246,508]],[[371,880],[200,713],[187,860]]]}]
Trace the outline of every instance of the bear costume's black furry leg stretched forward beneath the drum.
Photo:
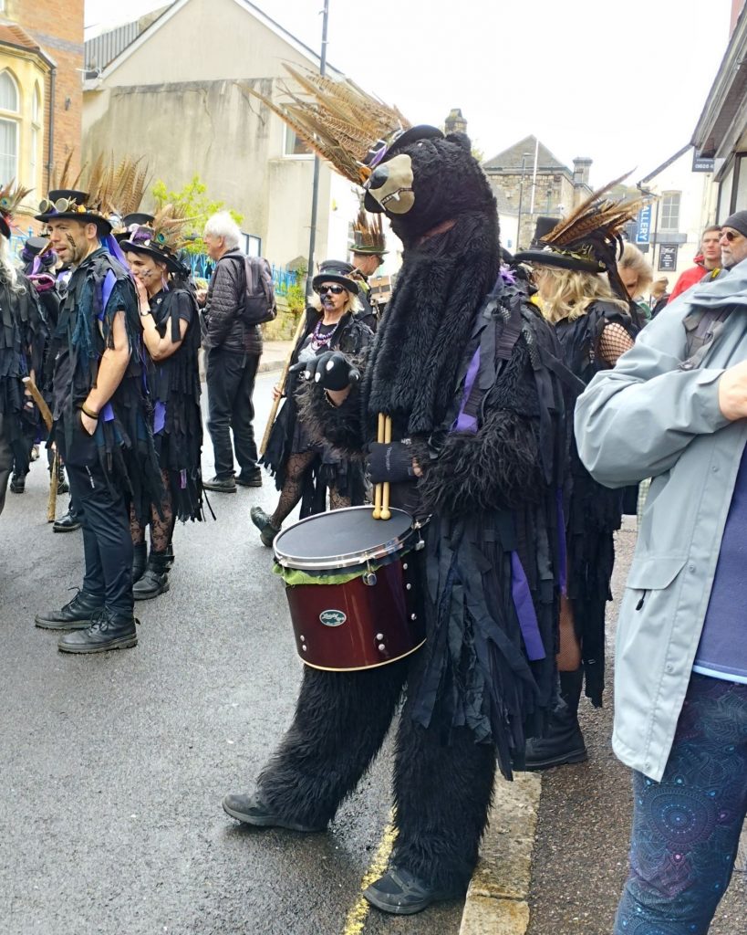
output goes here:
[{"label": "bear costume's black furry leg stretched forward beneath the drum", "polygon": [[408,660],[362,672],[303,668],[289,731],[261,771],[261,798],[309,826],[331,821],[387,735]]}]

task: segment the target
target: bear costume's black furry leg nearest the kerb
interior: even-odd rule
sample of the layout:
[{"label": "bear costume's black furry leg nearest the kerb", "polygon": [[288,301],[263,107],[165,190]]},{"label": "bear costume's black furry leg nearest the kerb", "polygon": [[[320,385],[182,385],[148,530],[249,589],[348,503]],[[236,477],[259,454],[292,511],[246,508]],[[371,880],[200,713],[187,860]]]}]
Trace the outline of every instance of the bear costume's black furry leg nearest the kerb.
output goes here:
[{"label": "bear costume's black furry leg nearest the kerb", "polygon": [[[415,697],[415,691],[411,697]],[[457,728],[421,727],[405,704],[397,735],[394,802],[399,835],[391,863],[434,889],[467,888],[493,794],[496,755]]]}]

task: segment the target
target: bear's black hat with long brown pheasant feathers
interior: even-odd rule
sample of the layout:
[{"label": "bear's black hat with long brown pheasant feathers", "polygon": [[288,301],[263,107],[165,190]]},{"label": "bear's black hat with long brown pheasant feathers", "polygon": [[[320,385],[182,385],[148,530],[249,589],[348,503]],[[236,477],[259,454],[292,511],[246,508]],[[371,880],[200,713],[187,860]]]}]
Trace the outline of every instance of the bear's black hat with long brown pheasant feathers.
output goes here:
[{"label": "bear's black hat with long brown pheasant feathers", "polygon": [[444,137],[436,127],[412,127],[400,110],[366,94],[349,79],[335,80],[310,69],[284,67],[298,85],[297,90],[287,83],[282,85],[289,101],[276,103],[253,88],[247,90],[285,121],[311,150],[357,185],[364,184],[373,167],[395,144]]}]

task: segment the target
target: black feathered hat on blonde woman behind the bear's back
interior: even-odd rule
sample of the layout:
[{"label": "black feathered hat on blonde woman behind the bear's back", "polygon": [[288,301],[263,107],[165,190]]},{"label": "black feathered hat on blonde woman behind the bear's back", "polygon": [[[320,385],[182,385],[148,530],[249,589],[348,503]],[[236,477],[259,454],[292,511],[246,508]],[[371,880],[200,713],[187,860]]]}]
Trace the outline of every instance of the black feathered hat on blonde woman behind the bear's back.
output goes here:
[{"label": "black feathered hat on blonde woman behind the bear's back", "polygon": [[[648,198],[642,195],[608,197],[610,191],[627,179],[626,175],[592,192],[569,217],[538,218],[536,246],[514,254],[514,263],[560,266],[586,273],[607,273],[620,295],[627,297],[617,275],[617,258],[623,243],[625,225],[636,217]],[[551,228],[548,230],[548,228]]]}]

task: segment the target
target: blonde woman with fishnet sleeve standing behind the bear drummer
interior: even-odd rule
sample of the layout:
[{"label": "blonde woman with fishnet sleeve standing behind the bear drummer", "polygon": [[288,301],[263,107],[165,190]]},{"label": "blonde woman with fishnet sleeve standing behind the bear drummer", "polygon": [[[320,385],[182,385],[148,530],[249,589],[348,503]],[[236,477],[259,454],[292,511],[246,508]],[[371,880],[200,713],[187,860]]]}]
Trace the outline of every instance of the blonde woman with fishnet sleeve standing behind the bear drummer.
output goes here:
[{"label": "blonde woman with fishnet sleeve standing behind the bear drummer", "polygon": [[[608,277],[594,264],[569,253],[543,252],[533,259],[534,281],[544,318],[555,325],[566,367],[584,383],[633,345],[636,333],[626,298],[615,295]],[[599,267],[597,267],[599,268]],[[571,432],[572,436],[572,432]],[[604,688],[604,615],[612,599],[613,532],[622,514],[620,491],[593,481],[571,441],[571,487],[563,507],[568,574],[560,602],[557,668],[565,702],[554,713],[549,731],[527,745],[527,769],[543,770],[587,757],[578,724],[578,704],[585,691],[601,706]]]}]

